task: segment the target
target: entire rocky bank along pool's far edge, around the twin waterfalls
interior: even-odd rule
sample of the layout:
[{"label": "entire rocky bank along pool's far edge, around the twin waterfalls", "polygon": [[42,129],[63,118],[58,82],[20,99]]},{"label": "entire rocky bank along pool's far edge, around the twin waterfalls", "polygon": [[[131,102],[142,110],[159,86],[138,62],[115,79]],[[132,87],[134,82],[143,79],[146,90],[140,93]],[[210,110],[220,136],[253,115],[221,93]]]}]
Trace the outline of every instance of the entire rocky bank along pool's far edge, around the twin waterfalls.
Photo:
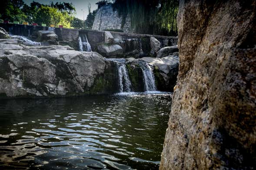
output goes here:
[{"label": "entire rocky bank along pool's far edge, around the twin waterfalls", "polygon": [[[0,98],[119,92],[116,63],[97,52],[80,52],[70,46],[29,46],[20,39],[0,39],[0,49]],[[126,59],[135,92],[145,91],[143,73],[138,67],[141,61],[152,67],[157,89],[172,91],[178,56]]]}]

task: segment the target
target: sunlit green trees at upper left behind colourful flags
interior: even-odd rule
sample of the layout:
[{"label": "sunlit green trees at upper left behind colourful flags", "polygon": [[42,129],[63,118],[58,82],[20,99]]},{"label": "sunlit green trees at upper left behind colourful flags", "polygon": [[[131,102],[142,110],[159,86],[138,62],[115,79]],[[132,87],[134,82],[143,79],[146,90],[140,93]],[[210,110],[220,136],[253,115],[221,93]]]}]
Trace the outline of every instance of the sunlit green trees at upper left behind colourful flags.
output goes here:
[{"label": "sunlit green trees at upper left behind colourful flags", "polygon": [[0,11],[1,18],[11,22],[27,21],[28,23],[46,23],[47,26],[63,25],[65,28],[70,28],[76,9],[72,3],[65,2],[43,5],[33,1],[29,6],[23,0],[3,0]]}]

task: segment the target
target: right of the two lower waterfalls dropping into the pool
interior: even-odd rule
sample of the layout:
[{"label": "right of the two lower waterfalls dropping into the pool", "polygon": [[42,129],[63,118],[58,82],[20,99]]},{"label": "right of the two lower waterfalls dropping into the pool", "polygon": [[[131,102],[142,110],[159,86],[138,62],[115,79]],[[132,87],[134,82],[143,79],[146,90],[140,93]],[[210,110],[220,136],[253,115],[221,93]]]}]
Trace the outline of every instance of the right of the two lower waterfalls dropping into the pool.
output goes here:
[{"label": "right of the two lower waterfalls dropping into the pool", "polygon": [[144,88],[146,92],[156,91],[155,77],[150,65],[146,62],[141,63],[141,69],[143,72]]}]

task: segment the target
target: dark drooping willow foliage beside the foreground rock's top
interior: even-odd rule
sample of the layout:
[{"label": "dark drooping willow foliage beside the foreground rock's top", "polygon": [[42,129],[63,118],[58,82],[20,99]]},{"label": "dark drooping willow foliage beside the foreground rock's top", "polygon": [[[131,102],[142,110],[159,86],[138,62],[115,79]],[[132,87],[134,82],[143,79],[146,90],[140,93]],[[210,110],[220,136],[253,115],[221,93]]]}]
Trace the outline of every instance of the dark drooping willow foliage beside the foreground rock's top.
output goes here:
[{"label": "dark drooping willow foliage beside the foreground rock's top", "polygon": [[115,0],[114,10],[122,16],[122,26],[130,16],[136,33],[177,34],[179,0]]}]

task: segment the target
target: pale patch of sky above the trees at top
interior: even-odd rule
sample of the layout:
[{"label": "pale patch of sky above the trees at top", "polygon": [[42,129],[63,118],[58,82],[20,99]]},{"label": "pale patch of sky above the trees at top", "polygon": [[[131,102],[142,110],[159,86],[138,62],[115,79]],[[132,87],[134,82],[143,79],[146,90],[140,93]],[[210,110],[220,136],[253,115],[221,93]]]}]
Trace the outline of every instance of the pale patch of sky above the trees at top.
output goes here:
[{"label": "pale patch of sky above the trees at top", "polygon": [[57,3],[57,2],[68,2],[73,3],[76,8],[76,17],[80,20],[83,20],[83,11],[84,11],[84,19],[86,20],[86,16],[88,15],[88,4],[91,4],[91,11],[96,10],[97,3],[100,0],[23,0],[24,3],[28,5],[35,1],[41,4],[50,4],[50,2]]}]

